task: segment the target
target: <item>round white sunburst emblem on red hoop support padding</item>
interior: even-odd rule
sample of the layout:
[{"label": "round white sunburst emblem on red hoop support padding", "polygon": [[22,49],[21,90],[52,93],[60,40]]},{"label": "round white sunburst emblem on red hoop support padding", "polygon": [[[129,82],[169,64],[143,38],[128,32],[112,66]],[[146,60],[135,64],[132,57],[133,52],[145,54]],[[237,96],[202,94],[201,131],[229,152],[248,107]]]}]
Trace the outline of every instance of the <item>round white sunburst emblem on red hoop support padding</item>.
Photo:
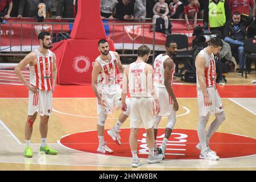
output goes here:
[{"label": "round white sunburst emblem on red hoop support padding", "polygon": [[88,57],[85,56],[76,56],[73,59],[73,69],[78,73],[86,73],[90,68],[90,61]]}]

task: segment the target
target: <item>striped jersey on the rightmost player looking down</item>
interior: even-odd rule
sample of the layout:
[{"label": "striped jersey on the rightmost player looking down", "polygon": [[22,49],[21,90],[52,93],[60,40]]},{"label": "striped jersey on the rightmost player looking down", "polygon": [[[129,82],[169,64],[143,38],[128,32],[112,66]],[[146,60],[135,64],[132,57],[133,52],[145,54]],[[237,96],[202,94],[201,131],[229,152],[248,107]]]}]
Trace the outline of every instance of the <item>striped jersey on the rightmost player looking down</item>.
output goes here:
[{"label": "striped jersey on the rightmost player looking down", "polygon": [[[216,65],[215,65],[213,53],[211,53],[209,55],[204,48],[198,54],[204,55],[204,57],[205,57],[204,79],[205,79],[206,87],[216,86],[216,81],[215,81]],[[200,85],[199,85],[197,75],[196,75],[196,88],[197,88],[197,90],[200,90]]]}]

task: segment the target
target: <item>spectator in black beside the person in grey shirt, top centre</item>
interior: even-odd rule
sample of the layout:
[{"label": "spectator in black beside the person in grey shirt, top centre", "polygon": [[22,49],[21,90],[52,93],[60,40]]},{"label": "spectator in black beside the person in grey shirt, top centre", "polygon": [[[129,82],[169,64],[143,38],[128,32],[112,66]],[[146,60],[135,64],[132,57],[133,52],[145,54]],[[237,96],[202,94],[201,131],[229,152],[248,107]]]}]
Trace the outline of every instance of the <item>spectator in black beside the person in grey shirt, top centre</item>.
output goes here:
[{"label": "spectator in black beside the person in grey shirt, top centre", "polygon": [[114,18],[119,20],[134,20],[134,4],[131,0],[122,0],[115,5]]}]

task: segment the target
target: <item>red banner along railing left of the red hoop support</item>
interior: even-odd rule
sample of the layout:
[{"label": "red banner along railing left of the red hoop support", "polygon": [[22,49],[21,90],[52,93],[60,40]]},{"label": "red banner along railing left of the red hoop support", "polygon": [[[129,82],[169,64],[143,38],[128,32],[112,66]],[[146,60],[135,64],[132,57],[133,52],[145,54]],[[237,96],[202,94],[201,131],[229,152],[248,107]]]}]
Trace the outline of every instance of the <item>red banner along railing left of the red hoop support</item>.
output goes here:
[{"label": "red banner along railing left of the red hoop support", "polygon": [[[25,23],[23,23],[25,22]],[[51,24],[51,23],[67,23],[67,24]],[[7,24],[1,24],[1,51],[30,51],[31,45],[38,47],[38,34],[42,30],[47,30],[51,34],[58,32],[70,32],[68,20],[47,19],[44,24],[36,22],[35,18],[17,19],[11,18],[7,20]],[[34,48],[32,48],[34,50]]]}]

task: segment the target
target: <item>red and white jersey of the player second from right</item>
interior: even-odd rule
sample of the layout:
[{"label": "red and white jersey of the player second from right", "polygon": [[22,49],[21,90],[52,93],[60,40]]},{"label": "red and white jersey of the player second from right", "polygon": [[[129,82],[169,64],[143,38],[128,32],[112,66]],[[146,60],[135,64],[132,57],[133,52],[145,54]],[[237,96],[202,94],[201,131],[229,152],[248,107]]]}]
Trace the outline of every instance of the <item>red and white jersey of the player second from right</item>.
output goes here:
[{"label": "red and white jersey of the player second from right", "polygon": [[[155,58],[154,73],[153,73],[153,81],[154,81],[155,86],[166,87],[164,85],[164,66],[163,66],[163,63],[167,58],[170,58],[170,56],[168,56],[168,55],[163,56],[162,53],[160,55],[156,56],[156,58]],[[172,71],[171,71],[171,79],[170,79],[170,84],[171,85],[172,85],[172,81],[173,81],[173,78],[174,78],[174,72],[175,72],[175,64],[174,64],[174,68],[172,68]]]}]

